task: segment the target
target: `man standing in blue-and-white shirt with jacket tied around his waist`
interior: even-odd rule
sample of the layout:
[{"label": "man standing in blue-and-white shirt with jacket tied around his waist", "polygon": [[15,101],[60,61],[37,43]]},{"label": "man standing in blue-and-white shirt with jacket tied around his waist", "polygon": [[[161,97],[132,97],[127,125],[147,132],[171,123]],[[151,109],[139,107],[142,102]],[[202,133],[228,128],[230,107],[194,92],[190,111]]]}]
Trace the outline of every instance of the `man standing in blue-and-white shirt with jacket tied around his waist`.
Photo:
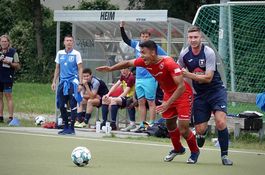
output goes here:
[{"label": "man standing in blue-and-white shirt with jacket tied around his waist", "polygon": [[[74,38],[72,35],[64,37],[64,50],[57,52],[55,62],[54,78],[51,88],[55,91],[56,81],[59,77],[57,89],[57,107],[60,109],[61,116],[65,122],[62,131],[58,134],[75,134],[74,123],[77,115],[77,103],[82,101],[80,91],[83,84],[79,82],[83,77],[82,58],[80,52],[73,48]],[[69,127],[67,106],[71,109],[71,124]]]}]

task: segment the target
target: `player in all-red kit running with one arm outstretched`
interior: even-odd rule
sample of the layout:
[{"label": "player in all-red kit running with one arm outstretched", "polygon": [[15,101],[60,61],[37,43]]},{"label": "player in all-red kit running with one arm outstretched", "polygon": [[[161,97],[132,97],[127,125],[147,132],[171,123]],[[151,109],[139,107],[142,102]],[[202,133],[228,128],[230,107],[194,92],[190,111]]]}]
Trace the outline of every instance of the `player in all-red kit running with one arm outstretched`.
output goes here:
[{"label": "player in all-red kit running with one arm outstretched", "polygon": [[102,66],[96,69],[99,71],[114,71],[130,66],[145,67],[155,77],[164,91],[163,102],[156,107],[156,112],[161,113],[162,117],[166,119],[166,126],[174,147],[164,158],[164,161],[172,161],[175,156],[185,153],[185,148],[180,142],[180,135],[182,135],[191,151],[187,163],[195,164],[200,151],[195,136],[189,129],[193,99],[192,89],[184,81],[180,66],[172,58],[157,55],[157,45],[154,41],[148,40],[139,46],[141,47],[140,58],[123,61],[111,67]]}]

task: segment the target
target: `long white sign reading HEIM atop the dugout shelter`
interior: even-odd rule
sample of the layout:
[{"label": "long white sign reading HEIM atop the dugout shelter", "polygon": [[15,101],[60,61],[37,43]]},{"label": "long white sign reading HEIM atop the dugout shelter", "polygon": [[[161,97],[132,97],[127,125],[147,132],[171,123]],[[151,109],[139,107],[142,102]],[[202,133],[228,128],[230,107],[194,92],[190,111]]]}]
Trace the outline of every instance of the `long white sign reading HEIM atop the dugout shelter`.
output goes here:
[{"label": "long white sign reading HEIM atop the dugout shelter", "polygon": [[55,10],[54,21],[167,21],[167,10]]}]

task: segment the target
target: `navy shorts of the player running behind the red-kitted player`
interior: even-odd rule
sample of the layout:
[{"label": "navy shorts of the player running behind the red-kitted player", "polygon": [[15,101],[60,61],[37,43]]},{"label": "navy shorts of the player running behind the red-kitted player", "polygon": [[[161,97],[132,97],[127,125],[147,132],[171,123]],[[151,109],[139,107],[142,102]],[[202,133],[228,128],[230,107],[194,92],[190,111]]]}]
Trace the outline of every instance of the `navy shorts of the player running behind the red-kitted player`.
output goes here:
[{"label": "navy shorts of the player running behind the red-kitted player", "polygon": [[227,113],[227,92],[225,88],[195,95],[193,102],[194,124],[208,122],[211,113],[223,111]]}]

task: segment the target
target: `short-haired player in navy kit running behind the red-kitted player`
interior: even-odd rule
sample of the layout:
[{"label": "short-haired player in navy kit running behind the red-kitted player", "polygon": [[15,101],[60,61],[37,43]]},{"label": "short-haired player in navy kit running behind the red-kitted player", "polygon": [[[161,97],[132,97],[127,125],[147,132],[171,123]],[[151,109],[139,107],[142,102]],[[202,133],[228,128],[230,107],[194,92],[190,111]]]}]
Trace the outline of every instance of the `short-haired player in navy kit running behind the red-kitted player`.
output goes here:
[{"label": "short-haired player in navy kit running behind the red-kitted player", "polygon": [[[227,92],[217,71],[216,55],[209,46],[202,44],[199,27],[188,29],[189,47],[179,56],[178,63],[183,67],[183,75],[192,79],[196,91],[193,104],[194,124],[197,144],[202,147],[213,112],[218,130],[218,141],[223,165],[233,165],[228,159],[229,134],[226,126]],[[187,70],[186,70],[186,69]]]}]

